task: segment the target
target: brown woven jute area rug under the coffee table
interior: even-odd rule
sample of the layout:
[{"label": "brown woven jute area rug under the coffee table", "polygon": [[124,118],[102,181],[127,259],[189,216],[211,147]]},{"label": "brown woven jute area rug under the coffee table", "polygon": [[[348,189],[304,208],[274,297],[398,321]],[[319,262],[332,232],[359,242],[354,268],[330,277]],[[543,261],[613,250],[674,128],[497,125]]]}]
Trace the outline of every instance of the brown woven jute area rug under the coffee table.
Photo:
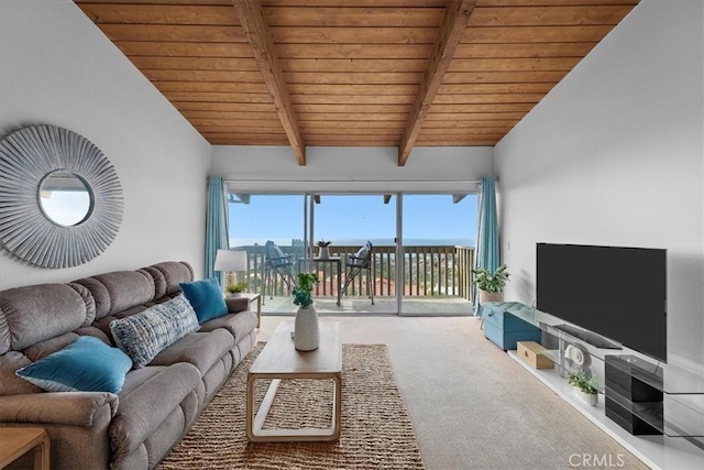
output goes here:
[{"label": "brown woven jute area rug under the coffee table", "polygon": [[[157,467],[169,469],[424,469],[385,345],[342,346],[342,435],[333,442],[250,442],[246,372],[258,342]],[[256,382],[256,406],[268,381]],[[264,428],[330,427],[332,382],[286,380]]]}]

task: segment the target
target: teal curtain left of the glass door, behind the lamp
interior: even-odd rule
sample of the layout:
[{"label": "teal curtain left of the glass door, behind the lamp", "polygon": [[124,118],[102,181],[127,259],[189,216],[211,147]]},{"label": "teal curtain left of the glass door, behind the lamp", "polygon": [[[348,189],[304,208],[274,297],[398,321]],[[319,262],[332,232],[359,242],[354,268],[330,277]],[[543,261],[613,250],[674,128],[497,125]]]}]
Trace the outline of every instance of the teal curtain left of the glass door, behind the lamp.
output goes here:
[{"label": "teal curtain left of the glass door, behind the lamp", "polygon": [[228,190],[224,178],[211,176],[208,179],[208,211],[206,216],[206,278],[217,277],[220,285],[224,282],[224,273],[216,271],[218,250],[229,250],[228,236]]}]

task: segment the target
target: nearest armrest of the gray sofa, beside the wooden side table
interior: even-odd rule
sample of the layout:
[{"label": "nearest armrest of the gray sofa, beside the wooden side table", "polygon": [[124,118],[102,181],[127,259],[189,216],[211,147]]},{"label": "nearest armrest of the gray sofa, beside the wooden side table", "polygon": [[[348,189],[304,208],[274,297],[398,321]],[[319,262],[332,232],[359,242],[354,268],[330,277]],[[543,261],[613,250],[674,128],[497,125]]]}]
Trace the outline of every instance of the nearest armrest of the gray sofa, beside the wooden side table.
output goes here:
[{"label": "nearest armrest of the gray sofa, beside the wooden side table", "polygon": [[[118,396],[107,392],[47,392],[0,396],[0,423],[57,424],[90,427],[118,411]],[[106,422],[106,419],[102,419]]]}]

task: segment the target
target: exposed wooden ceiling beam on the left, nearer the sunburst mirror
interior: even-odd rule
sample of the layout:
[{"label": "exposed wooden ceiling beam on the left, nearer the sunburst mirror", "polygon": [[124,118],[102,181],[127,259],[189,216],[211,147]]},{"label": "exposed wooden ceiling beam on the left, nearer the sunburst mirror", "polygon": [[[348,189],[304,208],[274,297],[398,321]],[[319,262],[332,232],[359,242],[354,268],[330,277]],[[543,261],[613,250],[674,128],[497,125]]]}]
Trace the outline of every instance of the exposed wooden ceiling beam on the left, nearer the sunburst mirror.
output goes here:
[{"label": "exposed wooden ceiling beam on the left, nearer the sunburst mirror", "polygon": [[254,57],[274,100],[278,118],[296,154],[296,160],[299,165],[304,166],[306,164],[306,145],[300,135],[288,91],[286,91],[286,81],[274,51],[274,42],[264,21],[262,6],[258,0],[232,0],[232,4],[238,12],[244,35],[252,46]]}]

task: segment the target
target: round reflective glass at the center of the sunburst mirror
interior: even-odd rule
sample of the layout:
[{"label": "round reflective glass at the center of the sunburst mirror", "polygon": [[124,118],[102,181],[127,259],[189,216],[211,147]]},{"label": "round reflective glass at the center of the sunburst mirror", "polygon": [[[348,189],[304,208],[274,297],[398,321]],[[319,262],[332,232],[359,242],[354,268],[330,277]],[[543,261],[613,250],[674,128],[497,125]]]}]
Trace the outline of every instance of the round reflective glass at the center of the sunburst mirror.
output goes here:
[{"label": "round reflective glass at the center of the sunburst mirror", "polygon": [[38,196],[46,217],[59,226],[74,227],[90,216],[90,188],[75,173],[64,170],[50,173],[40,185]]}]

